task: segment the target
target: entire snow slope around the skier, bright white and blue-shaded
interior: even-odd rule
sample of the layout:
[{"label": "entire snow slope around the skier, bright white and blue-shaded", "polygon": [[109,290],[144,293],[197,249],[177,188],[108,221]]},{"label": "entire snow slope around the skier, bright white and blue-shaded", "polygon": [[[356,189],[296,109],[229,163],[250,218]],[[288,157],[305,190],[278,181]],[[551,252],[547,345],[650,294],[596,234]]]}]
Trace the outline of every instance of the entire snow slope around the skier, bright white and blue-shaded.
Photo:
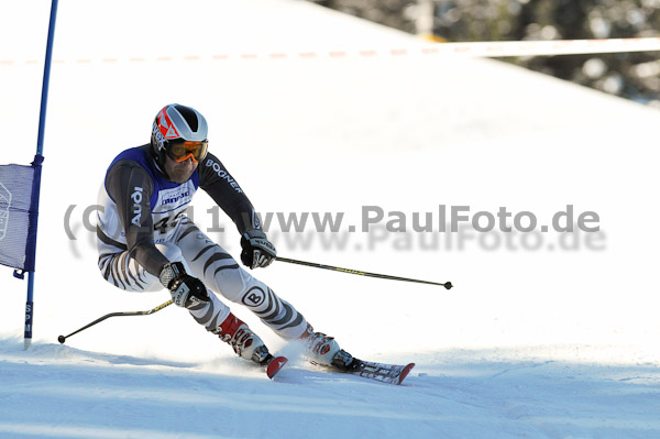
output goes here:
[{"label": "entire snow slope around the skier, bright white and blue-shaded", "polygon": [[[301,1],[134,3],[61,0],[29,351],[25,285],[0,271],[0,437],[660,438],[657,111],[497,62],[416,55],[425,43]],[[0,50],[3,163],[32,160],[48,4],[0,2],[1,41],[18,41]],[[239,307],[293,358],[276,382],[174,307],[57,343],[168,298],[106,284],[84,213],[112,157],[147,142],[173,101],[205,113],[211,151],[262,212],[345,213],[339,233],[273,227],[280,255],[455,285],[256,273],[350,352],[415,361],[406,385],[316,370]],[[414,212],[439,222],[439,205],[539,224],[573,205],[601,232],[411,230]],[[363,206],[405,212],[408,232],[360,233]],[[194,207],[217,226],[206,195]],[[217,220],[226,233],[209,234],[238,256]]]}]

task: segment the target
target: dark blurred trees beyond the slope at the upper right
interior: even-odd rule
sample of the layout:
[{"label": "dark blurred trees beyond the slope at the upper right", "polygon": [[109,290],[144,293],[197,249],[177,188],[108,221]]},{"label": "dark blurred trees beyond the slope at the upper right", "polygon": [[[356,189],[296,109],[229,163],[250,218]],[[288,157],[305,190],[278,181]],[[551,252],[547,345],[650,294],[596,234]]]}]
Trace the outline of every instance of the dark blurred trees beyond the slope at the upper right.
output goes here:
[{"label": "dark blurred trees beyond the slope at the upper right", "polygon": [[[311,0],[420,33],[421,0]],[[426,0],[431,33],[449,42],[658,36],[660,0]],[[660,52],[536,56],[507,62],[660,108]]]}]

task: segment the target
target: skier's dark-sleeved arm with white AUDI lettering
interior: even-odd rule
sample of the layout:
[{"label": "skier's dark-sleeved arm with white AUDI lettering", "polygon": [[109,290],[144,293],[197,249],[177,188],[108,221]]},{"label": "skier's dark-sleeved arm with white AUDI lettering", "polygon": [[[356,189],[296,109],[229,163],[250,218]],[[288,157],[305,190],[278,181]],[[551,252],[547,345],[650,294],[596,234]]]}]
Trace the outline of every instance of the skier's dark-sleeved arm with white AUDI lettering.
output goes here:
[{"label": "skier's dark-sleeved arm with white AUDI lettering", "polygon": [[117,205],[119,219],[127,234],[129,254],[157,277],[169,261],[154,244],[150,207],[154,186],[150,175],[133,161],[120,161],[108,172],[106,189]]}]

